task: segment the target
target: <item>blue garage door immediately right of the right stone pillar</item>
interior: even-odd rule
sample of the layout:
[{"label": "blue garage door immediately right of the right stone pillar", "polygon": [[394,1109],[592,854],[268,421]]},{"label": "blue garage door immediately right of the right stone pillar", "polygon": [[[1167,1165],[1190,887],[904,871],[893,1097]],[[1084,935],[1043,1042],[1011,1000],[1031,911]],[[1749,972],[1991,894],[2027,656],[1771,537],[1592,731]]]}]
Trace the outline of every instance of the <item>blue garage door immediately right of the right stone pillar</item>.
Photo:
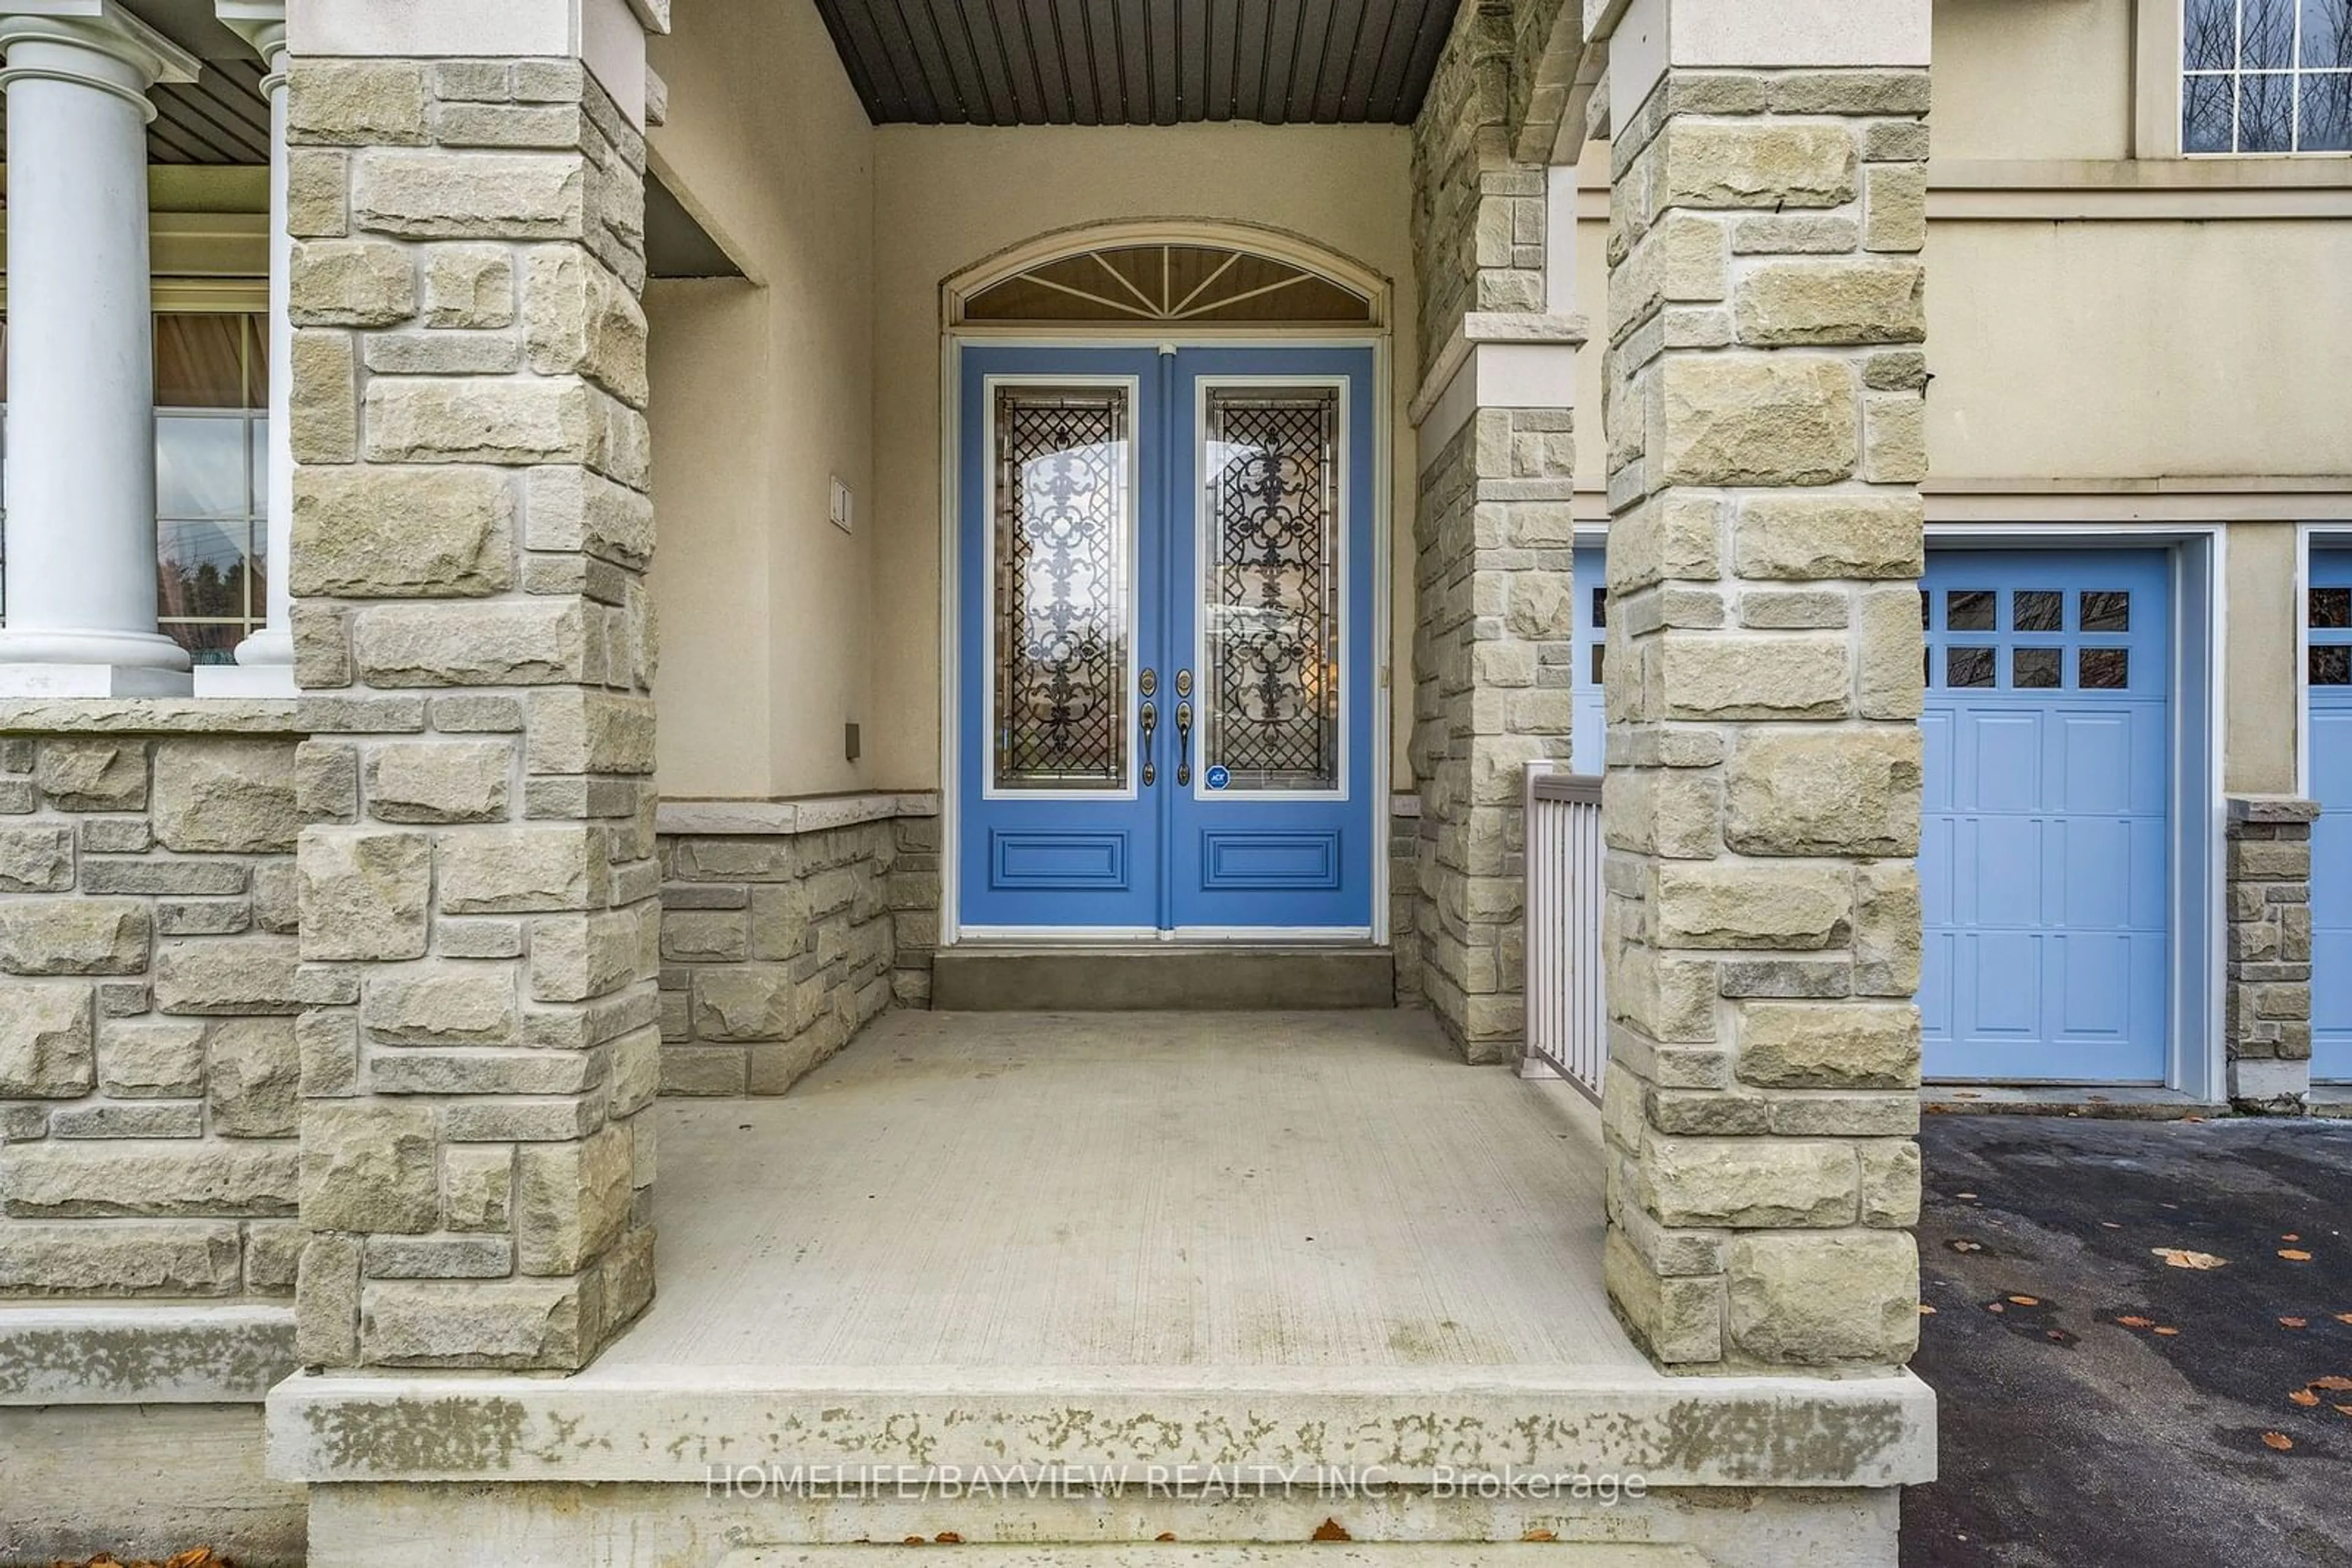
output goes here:
[{"label": "blue garage door immediately right of the right stone pillar", "polygon": [[1938,550],[1922,616],[1926,1074],[2164,1081],[2166,552]]}]

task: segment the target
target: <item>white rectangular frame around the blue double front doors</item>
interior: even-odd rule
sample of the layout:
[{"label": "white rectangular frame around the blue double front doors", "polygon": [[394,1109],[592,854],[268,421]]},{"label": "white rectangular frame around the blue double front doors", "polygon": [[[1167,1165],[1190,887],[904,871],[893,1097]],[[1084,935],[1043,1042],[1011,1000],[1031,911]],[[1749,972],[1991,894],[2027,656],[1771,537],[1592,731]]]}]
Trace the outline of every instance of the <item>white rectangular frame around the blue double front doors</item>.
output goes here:
[{"label": "white rectangular frame around the blue double front doors", "polygon": [[[1392,393],[1392,367],[1390,367],[1390,334],[1383,329],[1343,327],[1343,329],[1216,329],[1216,327],[1185,327],[1183,334],[1169,336],[1167,322],[1138,322],[1136,327],[1117,324],[1087,324],[1075,331],[1051,331],[1040,334],[1035,329],[988,329],[988,327],[950,327],[941,334],[938,353],[938,818],[941,818],[941,844],[938,844],[938,945],[955,947],[964,938],[960,889],[957,889],[957,860],[962,844],[962,741],[957,722],[962,715],[957,710],[960,682],[957,661],[962,658],[962,595],[957,592],[957,552],[955,531],[962,515],[962,463],[957,454],[962,449],[962,378],[964,378],[964,346],[985,348],[1136,348],[1150,343],[1160,353],[1171,355],[1181,348],[1369,348],[1371,350],[1371,494],[1367,505],[1371,505],[1371,649],[1374,649],[1374,682],[1371,682],[1371,715],[1374,729],[1371,745],[1371,778],[1367,788],[1371,792],[1371,943],[1385,947],[1390,940],[1388,922],[1388,839],[1392,835],[1392,802],[1390,802],[1390,773],[1392,755],[1397,745],[1395,733],[1395,393]],[[985,938],[1004,940],[1009,933],[988,931]],[[1023,943],[1068,943],[1080,945],[1134,945],[1134,943],[1169,943],[1178,940],[1176,933],[1162,931],[1021,931]],[[969,940],[983,940],[983,933],[974,933]],[[1251,931],[1185,931],[1181,933],[1185,943],[1223,940],[1223,943],[1362,943],[1359,931],[1331,933],[1331,931],[1296,931],[1296,929],[1251,929]]]}]

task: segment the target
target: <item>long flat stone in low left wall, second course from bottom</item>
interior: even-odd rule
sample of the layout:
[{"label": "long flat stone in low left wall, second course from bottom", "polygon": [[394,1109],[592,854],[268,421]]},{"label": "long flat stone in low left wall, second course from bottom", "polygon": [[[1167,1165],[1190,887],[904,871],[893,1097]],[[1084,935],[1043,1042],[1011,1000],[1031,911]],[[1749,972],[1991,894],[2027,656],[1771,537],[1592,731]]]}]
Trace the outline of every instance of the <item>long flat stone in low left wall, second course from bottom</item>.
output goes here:
[{"label": "long flat stone in low left wall, second course from bottom", "polygon": [[198,1218],[296,1211],[294,1150],[268,1143],[26,1143],[0,1147],[12,1215]]}]

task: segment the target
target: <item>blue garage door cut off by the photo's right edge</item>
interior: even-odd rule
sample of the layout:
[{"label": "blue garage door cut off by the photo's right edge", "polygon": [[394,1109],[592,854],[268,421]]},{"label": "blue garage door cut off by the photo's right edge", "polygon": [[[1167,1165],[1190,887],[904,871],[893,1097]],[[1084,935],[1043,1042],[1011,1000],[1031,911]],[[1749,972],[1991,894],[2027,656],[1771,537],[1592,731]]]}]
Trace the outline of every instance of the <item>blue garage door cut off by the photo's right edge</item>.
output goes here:
[{"label": "blue garage door cut off by the photo's right edge", "polygon": [[2352,550],[2312,550],[2312,1077],[2352,1079]]}]

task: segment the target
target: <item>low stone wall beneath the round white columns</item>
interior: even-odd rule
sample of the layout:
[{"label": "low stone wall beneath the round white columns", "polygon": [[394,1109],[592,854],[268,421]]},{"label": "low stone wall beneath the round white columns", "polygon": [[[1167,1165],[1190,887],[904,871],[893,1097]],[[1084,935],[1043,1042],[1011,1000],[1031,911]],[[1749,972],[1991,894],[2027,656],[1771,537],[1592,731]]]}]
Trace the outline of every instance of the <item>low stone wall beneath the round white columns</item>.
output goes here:
[{"label": "low stone wall beneath the round white columns", "polygon": [[292,729],[0,708],[0,1298],[294,1291]]}]

